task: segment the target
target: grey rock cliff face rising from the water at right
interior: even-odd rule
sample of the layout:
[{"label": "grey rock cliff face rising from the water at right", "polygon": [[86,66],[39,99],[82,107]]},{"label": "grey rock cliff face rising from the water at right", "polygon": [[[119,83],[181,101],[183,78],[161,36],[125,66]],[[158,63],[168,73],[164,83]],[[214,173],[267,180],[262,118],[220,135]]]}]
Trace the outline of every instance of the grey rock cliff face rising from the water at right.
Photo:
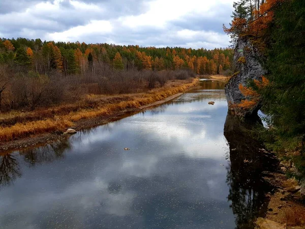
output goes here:
[{"label": "grey rock cliff face rising from the water at right", "polygon": [[261,79],[266,71],[258,61],[260,54],[247,38],[239,38],[234,50],[233,68],[235,73],[225,86],[229,110],[239,116],[251,116],[257,113],[259,105],[250,110],[241,110],[234,106],[245,99],[238,89],[239,84],[248,85],[249,80]]}]

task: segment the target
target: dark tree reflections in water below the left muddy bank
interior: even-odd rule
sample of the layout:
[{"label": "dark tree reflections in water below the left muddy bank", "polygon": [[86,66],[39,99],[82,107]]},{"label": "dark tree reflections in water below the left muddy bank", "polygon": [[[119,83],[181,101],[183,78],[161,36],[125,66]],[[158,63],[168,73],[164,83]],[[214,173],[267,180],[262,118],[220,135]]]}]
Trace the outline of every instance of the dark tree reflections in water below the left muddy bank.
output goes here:
[{"label": "dark tree reflections in water below the left muddy bank", "polygon": [[11,185],[13,181],[21,177],[21,169],[18,162],[20,156],[24,156],[24,161],[31,167],[41,163],[52,162],[55,159],[64,158],[64,152],[71,149],[69,139],[53,142],[50,145],[39,148],[29,148],[19,152],[7,153],[0,156],[0,187]]}]

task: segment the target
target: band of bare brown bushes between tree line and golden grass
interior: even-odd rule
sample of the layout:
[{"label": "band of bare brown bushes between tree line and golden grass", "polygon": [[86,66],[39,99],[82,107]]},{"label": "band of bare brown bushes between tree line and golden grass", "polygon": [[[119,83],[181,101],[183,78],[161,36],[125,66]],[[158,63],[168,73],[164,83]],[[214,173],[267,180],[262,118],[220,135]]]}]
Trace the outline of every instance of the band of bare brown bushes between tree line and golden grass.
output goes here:
[{"label": "band of bare brown bushes between tree line and golden grass", "polygon": [[194,76],[194,73],[188,70],[116,71],[106,64],[97,64],[94,71],[81,75],[64,76],[58,71],[49,72],[48,75],[40,75],[33,71],[18,72],[11,77],[9,83],[4,84],[9,85],[5,87],[7,93],[3,95],[2,104],[5,106],[4,110],[33,110],[37,107],[79,101],[88,94],[144,92],[163,87],[168,80],[188,79]]}]

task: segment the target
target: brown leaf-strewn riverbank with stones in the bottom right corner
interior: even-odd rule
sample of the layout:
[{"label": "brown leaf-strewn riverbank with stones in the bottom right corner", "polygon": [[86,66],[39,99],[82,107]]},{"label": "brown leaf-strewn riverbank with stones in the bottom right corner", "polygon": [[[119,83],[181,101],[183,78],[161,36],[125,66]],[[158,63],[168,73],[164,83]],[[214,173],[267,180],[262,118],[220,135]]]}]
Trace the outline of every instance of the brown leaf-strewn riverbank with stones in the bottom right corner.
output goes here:
[{"label": "brown leaf-strewn riverbank with stones in the bottom right corner", "polygon": [[264,172],[264,181],[274,188],[266,194],[267,212],[257,219],[256,228],[305,228],[305,199],[301,196],[301,187],[287,176],[293,171],[292,163],[281,161],[275,171]]}]

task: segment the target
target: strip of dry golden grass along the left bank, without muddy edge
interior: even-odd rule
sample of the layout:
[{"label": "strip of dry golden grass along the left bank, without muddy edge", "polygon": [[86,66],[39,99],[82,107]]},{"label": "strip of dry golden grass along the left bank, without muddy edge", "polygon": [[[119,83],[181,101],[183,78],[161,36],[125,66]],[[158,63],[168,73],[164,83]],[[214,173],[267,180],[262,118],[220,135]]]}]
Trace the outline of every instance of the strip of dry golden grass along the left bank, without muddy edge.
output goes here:
[{"label": "strip of dry golden grass along the left bank, without muddy edge", "polygon": [[14,111],[1,115],[0,140],[10,141],[33,134],[62,130],[73,126],[73,122],[115,115],[118,111],[138,108],[186,91],[198,82],[174,80],[165,87],[148,93],[102,96],[88,95],[83,101],[31,112]]}]

